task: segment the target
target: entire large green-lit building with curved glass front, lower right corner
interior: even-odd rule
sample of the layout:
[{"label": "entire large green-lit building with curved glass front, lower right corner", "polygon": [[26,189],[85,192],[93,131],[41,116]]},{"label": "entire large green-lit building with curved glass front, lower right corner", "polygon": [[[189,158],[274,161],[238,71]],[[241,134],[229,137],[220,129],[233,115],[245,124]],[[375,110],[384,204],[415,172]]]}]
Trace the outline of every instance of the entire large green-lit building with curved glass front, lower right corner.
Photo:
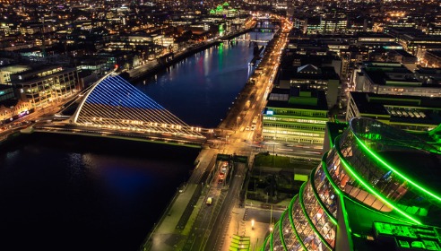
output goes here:
[{"label": "entire large green-lit building with curved glass front, lower right corner", "polygon": [[328,123],[327,134],[262,249],[441,250],[441,152],[370,118]]}]

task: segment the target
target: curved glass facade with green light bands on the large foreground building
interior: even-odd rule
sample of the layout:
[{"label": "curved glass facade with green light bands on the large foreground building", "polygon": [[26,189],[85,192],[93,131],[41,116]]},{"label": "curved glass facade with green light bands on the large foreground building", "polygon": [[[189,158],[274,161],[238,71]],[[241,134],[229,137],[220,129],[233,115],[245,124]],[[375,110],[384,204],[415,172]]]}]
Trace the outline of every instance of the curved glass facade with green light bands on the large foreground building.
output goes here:
[{"label": "curved glass facade with green light bands on the large foreground building", "polygon": [[[433,156],[431,146],[390,125],[357,117],[334,142],[275,224],[263,250],[334,249],[342,195],[411,224],[439,218],[434,217],[441,215],[437,186],[411,178],[411,165],[418,160],[440,158]],[[406,163],[401,163],[402,152],[410,159]]]}]

